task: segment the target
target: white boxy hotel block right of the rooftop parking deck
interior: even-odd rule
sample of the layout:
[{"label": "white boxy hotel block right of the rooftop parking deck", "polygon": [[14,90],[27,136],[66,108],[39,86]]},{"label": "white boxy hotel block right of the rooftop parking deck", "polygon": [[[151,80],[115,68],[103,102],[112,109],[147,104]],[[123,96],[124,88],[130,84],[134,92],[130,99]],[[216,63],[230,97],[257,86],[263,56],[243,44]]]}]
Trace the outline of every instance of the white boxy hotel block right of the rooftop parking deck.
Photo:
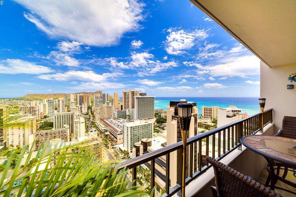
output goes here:
[{"label": "white boxy hotel block right of the rooftop parking deck", "polygon": [[132,152],[133,145],[144,138],[152,138],[154,121],[137,120],[123,123],[123,147]]}]

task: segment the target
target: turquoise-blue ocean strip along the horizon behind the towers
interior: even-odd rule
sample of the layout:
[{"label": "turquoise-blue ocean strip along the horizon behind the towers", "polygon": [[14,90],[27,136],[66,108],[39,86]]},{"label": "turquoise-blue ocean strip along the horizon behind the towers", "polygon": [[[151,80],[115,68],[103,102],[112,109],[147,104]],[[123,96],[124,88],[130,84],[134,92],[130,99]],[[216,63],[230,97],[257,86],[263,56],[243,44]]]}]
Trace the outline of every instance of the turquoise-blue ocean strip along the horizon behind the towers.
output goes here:
[{"label": "turquoise-blue ocean strip along the horizon behind the towers", "polygon": [[166,110],[170,101],[186,99],[186,101],[197,103],[199,114],[202,113],[202,106],[228,108],[229,105],[235,105],[237,108],[242,109],[242,113],[247,112],[248,115],[254,115],[260,112],[258,98],[259,97],[155,97],[155,109]]}]

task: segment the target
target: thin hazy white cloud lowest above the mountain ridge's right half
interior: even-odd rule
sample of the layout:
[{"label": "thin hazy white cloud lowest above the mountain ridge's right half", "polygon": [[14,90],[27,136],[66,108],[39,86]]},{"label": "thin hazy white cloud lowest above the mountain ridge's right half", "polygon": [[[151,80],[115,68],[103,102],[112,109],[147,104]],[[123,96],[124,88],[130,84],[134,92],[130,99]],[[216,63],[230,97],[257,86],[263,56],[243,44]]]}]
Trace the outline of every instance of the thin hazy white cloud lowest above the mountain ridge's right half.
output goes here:
[{"label": "thin hazy white cloud lowest above the mountain ridge's right half", "polygon": [[116,82],[103,82],[103,83],[96,83],[96,82],[81,82],[78,86],[70,87],[71,89],[81,89],[81,90],[103,90],[103,89],[117,89],[117,88],[124,88],[126,87],[125,84],[116,83]]}]

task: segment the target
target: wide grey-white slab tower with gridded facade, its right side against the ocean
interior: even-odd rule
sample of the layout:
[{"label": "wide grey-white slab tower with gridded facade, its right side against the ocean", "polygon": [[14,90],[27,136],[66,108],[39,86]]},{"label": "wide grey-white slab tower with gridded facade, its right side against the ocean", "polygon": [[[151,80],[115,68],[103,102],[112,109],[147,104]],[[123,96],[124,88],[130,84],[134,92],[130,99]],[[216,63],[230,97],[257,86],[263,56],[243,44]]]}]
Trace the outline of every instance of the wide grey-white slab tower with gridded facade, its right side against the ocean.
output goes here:
[{"label": "wide grey-white slab tower with gridded facade, its right side against the ocean", "polygon": [[135,110],[133,113],[135,120],[155,118],[154,98],[154,96],[135,96]]}]

